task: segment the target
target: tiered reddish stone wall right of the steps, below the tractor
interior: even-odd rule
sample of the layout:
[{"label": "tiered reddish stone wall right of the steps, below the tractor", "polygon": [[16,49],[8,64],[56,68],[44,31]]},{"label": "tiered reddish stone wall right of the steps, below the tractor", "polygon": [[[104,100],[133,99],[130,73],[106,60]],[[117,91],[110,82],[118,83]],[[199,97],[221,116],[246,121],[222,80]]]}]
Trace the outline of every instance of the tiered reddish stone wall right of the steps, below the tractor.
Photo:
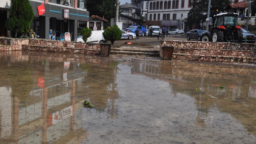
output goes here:
[{"label": "tiered reddish stone wall right of the steps, below the tractor", "polygon": [[256,44],[162,40],[159,50],[161,58],[162,46],[174,46],[173,59],[256,63]]}]

